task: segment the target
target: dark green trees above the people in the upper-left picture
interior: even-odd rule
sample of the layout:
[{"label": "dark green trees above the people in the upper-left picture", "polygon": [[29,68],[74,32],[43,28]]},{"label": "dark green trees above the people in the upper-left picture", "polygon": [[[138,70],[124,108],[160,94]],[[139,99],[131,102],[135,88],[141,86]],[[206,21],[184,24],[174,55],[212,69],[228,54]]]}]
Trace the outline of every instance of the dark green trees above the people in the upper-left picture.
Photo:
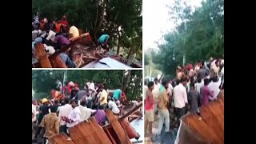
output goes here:
[{"label": "dark green trees above the people in the upper-left picture", "polygon": [[136,53],[142,59],[142,0],[32,0],[32,14],[37,12],[49,19],[66,14],[70,25],[90,31],[94,41],[109,34],[117,54],[124,47],[127,57]]}]

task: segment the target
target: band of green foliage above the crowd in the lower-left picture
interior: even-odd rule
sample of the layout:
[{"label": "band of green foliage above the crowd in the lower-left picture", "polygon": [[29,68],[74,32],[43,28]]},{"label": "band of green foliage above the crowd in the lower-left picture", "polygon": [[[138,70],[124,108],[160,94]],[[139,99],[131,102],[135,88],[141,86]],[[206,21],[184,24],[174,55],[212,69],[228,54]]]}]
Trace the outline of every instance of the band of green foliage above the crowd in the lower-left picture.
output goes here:
[{"label": "band of green foliage above the crowd in the lower-left picture", "polygon": [[[36,94],[50,95],[56,80],[63,81],[65,70],[32,70],[32,86]],[[142,94],[142,70],[67,70],[67,81],[77,83],[80,88],[85,82],[94,80],[106,83],[106,89],[115,90],[122,86],[127,98],[135,99]]]}]

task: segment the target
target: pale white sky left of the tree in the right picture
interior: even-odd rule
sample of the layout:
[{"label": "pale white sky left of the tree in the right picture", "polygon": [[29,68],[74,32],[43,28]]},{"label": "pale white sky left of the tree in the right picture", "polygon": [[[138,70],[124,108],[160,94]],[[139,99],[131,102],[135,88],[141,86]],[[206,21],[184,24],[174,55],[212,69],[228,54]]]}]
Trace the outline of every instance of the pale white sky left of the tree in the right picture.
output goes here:
[{"label": "pale white sky left of the tree in the right picture", "polygon": [[[191,6],[201,6],[202,0],[190,0]],[[169,9],[166,5],[174,4],[174,0],[143,0],[142,4],[142,30],[143,50],[157,49],[155,42],[163,42],[162,36],[174,29]]]}]

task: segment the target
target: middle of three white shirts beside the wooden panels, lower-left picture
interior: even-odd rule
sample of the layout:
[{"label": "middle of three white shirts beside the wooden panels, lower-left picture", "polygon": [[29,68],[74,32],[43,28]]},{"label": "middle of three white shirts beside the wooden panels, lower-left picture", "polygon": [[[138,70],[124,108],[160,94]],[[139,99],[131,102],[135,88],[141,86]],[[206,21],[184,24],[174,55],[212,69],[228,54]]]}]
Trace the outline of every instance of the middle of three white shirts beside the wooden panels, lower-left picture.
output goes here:
[{"label": "middle of three white shirts beside the wooden panels, lower-left picture", "polygon": [[72,109],[72,110],[70,111],[70,114],[69,114],[69,117],[68,117],[68,118],[71,119],[71,120],[73,120],[74,122],[67,123],[67,124],[66,124],[66,127],[74,127],[74,126],[76,126],[79,122],[81,122],[81,117],[80,117],[80,115],[81,115],[81,112],[80,112],[78,106],[75,107],[74,109]]}]

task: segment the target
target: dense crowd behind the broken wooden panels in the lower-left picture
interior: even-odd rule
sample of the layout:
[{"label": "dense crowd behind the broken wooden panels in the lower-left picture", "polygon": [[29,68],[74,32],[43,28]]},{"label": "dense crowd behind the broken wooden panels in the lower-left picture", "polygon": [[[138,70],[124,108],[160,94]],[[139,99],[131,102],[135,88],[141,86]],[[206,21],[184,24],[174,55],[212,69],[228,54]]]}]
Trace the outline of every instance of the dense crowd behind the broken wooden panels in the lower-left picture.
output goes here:
[{"label": "dense crowd behind the broken wooden panels in the lower-left picture", "polygon": [[121,89],[108,93],[105,84],[93,81],[86,82],[81,90],[74,82],[66,82],[62,86],[62,82],[57,80],[56,85],[53,98],[32,100],[34,142],[41,142],[43,139],[43,143],[46,143],[47,138],[60,132],[70,136],[68,128],[91,116],[94,116],[100,126],[106,125],[108,120],[104,110],[110,109],[116,117],[120,117],[123,113],[122,105],[127,101],[126,94]]}]

